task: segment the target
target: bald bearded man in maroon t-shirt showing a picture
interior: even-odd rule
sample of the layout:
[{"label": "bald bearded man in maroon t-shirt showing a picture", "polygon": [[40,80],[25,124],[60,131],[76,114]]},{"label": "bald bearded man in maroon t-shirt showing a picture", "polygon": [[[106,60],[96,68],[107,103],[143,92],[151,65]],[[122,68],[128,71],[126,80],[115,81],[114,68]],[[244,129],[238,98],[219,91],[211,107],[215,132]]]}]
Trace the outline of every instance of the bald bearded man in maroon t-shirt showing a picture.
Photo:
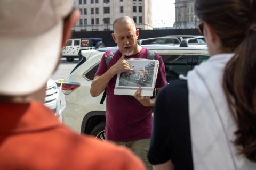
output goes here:
[{"label": "bald bearded man in maroon t-shirt showing a picture", "polygon": [[[152,129],[151,110],[155,98],[140,96],[141,88],[135,92],[134,96],[114,95],[117,74],[134,71],[125,59],[147,58],[148,49],[137,44],[139,30],[135,28],[131,18],[122,16],[116,19],[113,25],[112,37],[119,49],[108,65],[106,57],[111,50],[105,52],[91,84],[90,92],[92,96],[99,96],[107,88],[106,139],[129,147],[143,160],[147,168],[151,169],[147,160],[147,152]],[[166,75],[161,56],[156,54],[155,60],[159,60],[155,86],[158,92],[166,85]]]}]

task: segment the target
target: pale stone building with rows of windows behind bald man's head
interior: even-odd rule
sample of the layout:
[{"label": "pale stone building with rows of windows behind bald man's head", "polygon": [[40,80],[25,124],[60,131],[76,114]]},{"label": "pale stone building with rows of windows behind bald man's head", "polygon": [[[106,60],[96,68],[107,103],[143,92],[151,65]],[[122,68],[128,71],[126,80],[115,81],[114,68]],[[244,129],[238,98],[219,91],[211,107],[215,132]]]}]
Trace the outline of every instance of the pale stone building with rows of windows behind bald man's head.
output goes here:
[{"label": "pale stone building with rows of windows behind bald man's head", "polygon": [[74,31],[113,30],[120,16],[130,16],[138,29],[153,29],[151,0],[76,0],[81,12]]}]

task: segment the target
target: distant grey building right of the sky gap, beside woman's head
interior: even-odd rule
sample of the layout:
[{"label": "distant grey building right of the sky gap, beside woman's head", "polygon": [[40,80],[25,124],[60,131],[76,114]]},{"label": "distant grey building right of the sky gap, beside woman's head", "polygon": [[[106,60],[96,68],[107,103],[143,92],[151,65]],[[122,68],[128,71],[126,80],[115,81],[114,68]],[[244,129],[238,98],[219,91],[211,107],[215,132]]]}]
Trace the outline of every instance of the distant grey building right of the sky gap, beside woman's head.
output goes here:
[{"label": "distant grey building right of the sky gap, beside woman's head", "polygon": [[194,11],[195,0],[175,1],[175,29],[197,28],[199,22]]}]

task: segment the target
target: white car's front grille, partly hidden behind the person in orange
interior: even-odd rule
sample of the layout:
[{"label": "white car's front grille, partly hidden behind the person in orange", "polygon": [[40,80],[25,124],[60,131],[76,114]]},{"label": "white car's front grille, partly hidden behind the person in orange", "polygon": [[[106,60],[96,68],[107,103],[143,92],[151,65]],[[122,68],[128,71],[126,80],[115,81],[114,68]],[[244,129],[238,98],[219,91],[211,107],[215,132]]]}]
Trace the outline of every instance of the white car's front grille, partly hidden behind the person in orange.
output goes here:
[{"label": "white car's front grille, partly hidden behind the person in orange", "polygon": [[52,79],[49,79],[46,86],[44,105],[49,107],[55,113],[55,116],[57,116],[59,120],[62,121],[60,114],[61,101],[59,95],[60,92],[57,88],[57,84]]}]

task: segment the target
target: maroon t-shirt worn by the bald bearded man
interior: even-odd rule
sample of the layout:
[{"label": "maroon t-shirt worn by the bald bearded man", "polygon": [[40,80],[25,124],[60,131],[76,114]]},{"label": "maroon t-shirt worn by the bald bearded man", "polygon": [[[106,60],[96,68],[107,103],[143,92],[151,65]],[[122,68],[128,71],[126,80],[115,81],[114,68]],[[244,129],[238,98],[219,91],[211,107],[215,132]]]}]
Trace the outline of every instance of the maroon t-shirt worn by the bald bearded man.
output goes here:
[{"label": "maroon t-shirt worn by the bald bearded man", "polygon": [[[95,76],[104,74],[122,56],[122,53],[117,50],[107,67],[106,57],[110,52],[111,50],[108,50],[104,53]],[[132,56],[125,56],[125,58],[147,58],[147,49],[142,48],[139,53]],[[161,88],[167,84],[165,67],[161,56],[156,54],[155,60],[159,60],[159,70],[155,87]],[[116,75],[107,85],[106,139],[127,142],[150,138],[152,130],[152,107],[143,106],[133,96],[114,95],[115,83]]]}]

